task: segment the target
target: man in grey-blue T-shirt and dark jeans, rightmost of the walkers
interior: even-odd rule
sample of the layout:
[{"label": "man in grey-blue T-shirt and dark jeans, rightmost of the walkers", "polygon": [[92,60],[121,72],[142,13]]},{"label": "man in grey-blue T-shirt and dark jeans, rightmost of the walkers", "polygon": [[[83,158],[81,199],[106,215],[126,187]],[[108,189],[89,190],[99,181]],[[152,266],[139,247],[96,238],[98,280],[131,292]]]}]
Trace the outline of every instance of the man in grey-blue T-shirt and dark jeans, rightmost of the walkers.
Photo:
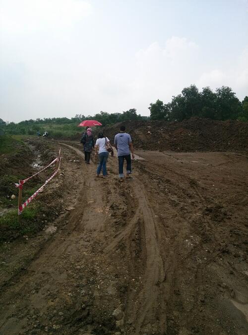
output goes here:
[{"label": "man in grey-blue T-shirt and dark jeans, rightmost of the walkers", "polygon": [[120,127],[120,133],[115,136],[115,147],[117,149],[118,161],[119,161],[119,178],[122,182],[124,180],[123,166],[124,160],[126,160],[126,178],[131,178],[131,155],[134,158],[134,149],[132,145],[131,136],[125,132],[125,126]]}]

